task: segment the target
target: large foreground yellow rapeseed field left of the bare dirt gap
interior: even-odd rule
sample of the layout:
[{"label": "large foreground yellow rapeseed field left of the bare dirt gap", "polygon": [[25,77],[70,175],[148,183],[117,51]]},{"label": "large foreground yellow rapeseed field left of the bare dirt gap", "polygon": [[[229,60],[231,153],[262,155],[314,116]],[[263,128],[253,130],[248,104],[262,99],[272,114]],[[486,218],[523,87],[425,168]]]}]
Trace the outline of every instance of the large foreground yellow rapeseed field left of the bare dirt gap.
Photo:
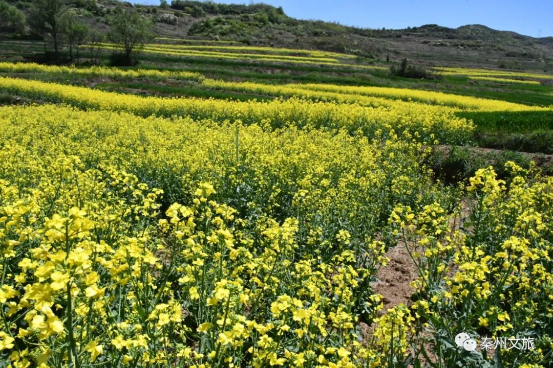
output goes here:
[{"label": "large foreground yellow rapeseed field left of the bare dirt gap", "polygon": [[[419,143],[51,105],[0,108],[0,136],[8,366],[353,368],[408,355],[412,317],[377,317],[369,285],[390,204],[447,196]],[[361,313],[381,337],[370,345]]]}]

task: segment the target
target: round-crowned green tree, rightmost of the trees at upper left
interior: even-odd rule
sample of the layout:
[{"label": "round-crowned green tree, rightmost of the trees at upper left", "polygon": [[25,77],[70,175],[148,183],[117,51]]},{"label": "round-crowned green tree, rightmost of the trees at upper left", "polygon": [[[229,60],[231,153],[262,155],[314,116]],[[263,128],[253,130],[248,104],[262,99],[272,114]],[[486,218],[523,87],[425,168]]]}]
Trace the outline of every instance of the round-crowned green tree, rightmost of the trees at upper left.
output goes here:
[{"label": "round-crowned green tree, rightmost of the trees at upper left", "polygon": [[131,64],[133,54],[152,39],[153,22],[134,9],[117,9],[109,18],[109,39],[124,51]]}]

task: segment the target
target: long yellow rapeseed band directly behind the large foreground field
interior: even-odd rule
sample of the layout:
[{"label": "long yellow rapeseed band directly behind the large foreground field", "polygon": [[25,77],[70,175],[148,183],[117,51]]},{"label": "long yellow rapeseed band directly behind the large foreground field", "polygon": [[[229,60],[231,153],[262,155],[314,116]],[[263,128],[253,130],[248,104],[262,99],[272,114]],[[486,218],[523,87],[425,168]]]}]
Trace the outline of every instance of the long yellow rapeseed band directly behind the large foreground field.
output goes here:
[{"label": "long yellow rapeseed band directly behind the large foreground field", "polygon": [[[127,111],[140,116],[190,116],[214,121],[262,122],[273,128],[295,125],[325,129],[363,131],[374,136],[384,129],[403,132],[421,142],[463,143],[470,140],[474,125],[457,118],[446,108],[384,101],[388,106],[368,107],[359,103],[306,101],[291,98],[271,102],[238,102],[195,98],[139,97],[56,83],[0,78],[0,89],[37,100],[66,103],[83,109]],[[369,98],[367,98],[368,100]],[[374,100],[378,101],[378,100]],[[374,103],[378,105],[377,103]]]}]

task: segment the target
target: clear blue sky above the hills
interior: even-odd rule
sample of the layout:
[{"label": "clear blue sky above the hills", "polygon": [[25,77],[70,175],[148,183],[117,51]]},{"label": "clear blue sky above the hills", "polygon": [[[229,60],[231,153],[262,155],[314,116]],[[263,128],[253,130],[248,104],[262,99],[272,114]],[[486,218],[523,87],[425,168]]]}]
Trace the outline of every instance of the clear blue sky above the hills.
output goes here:
[{"label": "clear blue sky above the hills", "polygon": [[[131,0],[159,4],[159,0]],[[168,0],[171,3],[170,0]],[[251,1],[221,0],[220,3]],[[551,0],[264,0],[281,6],[299,19],[321,19],[366,28],[406,28],[439,24],[456,28],[483,24],[493,29],[512,30],[537,37],[553,36]],[[541,31],[540,31],[541,30]]]}]

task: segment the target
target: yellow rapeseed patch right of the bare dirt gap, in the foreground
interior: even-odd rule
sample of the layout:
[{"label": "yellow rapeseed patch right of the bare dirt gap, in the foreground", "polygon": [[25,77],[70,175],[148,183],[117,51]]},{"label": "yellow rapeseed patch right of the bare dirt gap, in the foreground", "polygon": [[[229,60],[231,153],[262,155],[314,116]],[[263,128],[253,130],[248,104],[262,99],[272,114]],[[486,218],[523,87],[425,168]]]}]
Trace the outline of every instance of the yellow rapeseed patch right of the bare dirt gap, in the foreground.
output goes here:
[{"label": "yellow rapeseed patch right of the bare dirt gap, in the foreground", "polygon": [[[441,366],[547,367],[553,361],[553,178],[505,164],[509,182],[482,168],[466,187],[468,204],[448,214],[438,203],[414,211],[398,206],[390,216],[419,279],[411,306],[416,329],[432,336],[421,343],[441,351]],[[531,179],[530,179],[531,178]],[[497,347],[478,357],[456,347],[456,334],[535,339],[533,349]],[[460,354],[461,353],[461,354]],[[475,359],[477,358],[477,359]]]}]

